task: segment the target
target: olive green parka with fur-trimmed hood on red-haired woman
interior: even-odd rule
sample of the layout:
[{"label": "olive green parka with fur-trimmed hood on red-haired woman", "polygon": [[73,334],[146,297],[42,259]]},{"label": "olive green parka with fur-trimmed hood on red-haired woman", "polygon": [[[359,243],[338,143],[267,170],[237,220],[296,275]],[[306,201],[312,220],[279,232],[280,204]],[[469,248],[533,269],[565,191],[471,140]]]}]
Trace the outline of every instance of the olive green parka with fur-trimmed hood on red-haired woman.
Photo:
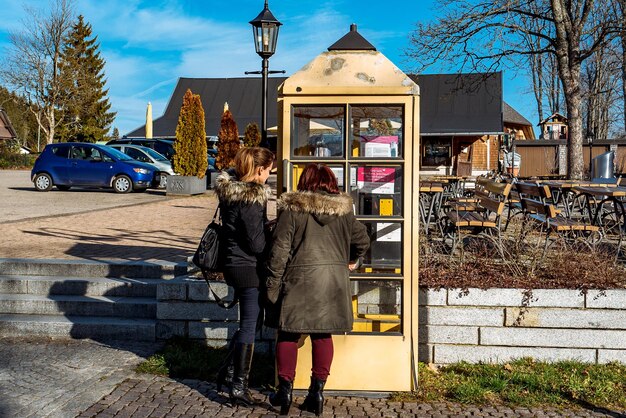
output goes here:
[{"label": "olive green parka with fur-trimmed hood on red-haired woman", "polygon": [[268,325],[303,334],[352,330],[348,263],[370,243],[352,208],[344,193],[281,195],[266,283],[280,313],[278,323]]}]

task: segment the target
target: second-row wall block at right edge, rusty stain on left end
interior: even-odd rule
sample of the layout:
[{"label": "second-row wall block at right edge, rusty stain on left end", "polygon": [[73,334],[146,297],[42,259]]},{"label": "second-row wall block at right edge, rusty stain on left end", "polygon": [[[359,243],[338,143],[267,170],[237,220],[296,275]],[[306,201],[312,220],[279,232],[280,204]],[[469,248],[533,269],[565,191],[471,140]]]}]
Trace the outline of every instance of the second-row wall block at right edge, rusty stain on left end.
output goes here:
[{"label": "second-row wall block at right edge, rusty stain on left end", "polygon": [[506,308],[506,326],[626,330],[626,315],[610,309]]}]

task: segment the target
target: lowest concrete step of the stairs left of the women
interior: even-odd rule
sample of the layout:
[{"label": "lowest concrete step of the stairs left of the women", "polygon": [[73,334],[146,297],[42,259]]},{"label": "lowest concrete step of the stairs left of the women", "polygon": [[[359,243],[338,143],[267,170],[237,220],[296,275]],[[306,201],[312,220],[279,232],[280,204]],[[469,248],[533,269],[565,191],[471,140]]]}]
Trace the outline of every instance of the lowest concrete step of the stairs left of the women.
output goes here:
[{"label": "lowest concrete step of the stairs left of the women", "polygon": [[155,341],[154,319],[0,314],[0,335]]}]

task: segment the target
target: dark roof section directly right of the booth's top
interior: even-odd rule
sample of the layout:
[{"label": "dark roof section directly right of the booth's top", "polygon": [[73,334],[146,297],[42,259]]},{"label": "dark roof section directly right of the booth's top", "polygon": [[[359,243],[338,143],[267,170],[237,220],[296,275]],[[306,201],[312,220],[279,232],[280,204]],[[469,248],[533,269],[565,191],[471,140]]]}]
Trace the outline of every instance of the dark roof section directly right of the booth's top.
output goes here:
[{"label": "dark roof section directly right of the booth's top", "polygon": [[422,135],[502,133],[502,73],[409,74],[420,87]]}]

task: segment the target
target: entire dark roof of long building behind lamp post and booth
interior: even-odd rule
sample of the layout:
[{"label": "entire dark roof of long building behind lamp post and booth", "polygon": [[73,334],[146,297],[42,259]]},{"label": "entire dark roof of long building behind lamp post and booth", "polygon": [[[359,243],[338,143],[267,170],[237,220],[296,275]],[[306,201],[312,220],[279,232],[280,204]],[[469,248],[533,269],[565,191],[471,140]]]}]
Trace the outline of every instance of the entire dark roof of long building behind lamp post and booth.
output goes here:
[{"label": "entire dark roof of long building behind lamp post and booth", "polygon": [[[502,101],[502,74],[410,75],[420,87],[420,132],[422,135],[483,135],[501,133],[503,120],[531,125]],[[277,125],[278,86],[285,77],[268,81],[267,127]],[[224,102],[243,135],[250,122],[261,124],[261,80],[259,78],[180,78],[163,116],[153,123],[154,137],[174,137],[182,98],[187,89],[200,94],[206,133],[215,136],[220,128]],[[127,134],[144,137],[145,126]]]}]

